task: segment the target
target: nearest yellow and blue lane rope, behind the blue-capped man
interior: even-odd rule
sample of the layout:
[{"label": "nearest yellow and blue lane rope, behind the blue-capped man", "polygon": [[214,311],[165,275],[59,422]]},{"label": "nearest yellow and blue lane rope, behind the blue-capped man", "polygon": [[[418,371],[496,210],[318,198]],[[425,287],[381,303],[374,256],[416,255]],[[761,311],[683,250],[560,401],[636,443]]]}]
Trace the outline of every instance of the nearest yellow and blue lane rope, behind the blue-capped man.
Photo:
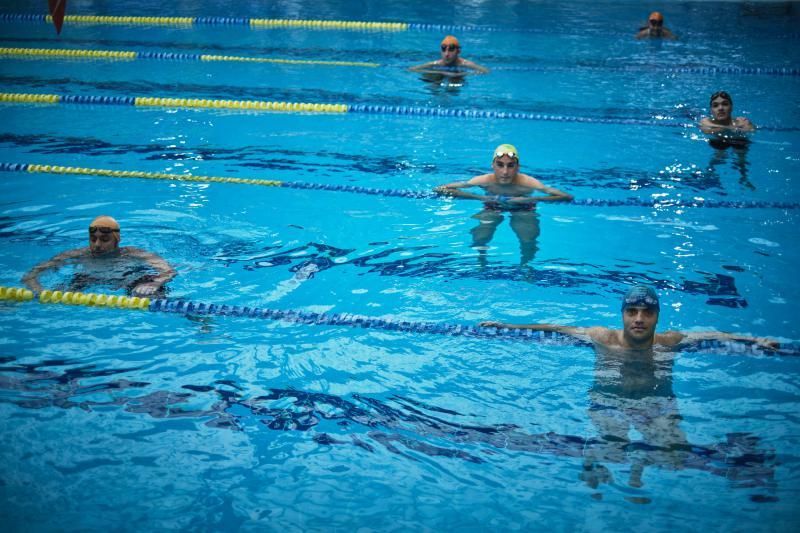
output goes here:
[{"label": "nearest yellow and blue lane rope, behind the blue-capped man", "polygon": [[[482,327],[465,324],[412,322],[389,320],[351,313],[315,313],[309,311],[280,310],[238,305],[218,305],[205,302],[173,300],[166,298],[138,298],[81,292],[61,292],[44,290],[38,294],[26,288],[0,287],[0,300],[29,302],[37,300],[42,304],[63,304],[85,307],[106,307],[134,311],[176,313],[182,315],[217,315],[240,318],[283,320],[307,325],[349,326],[363,329],[422,333],[431,335],[460,336],[471,338],[513,338],[542,342],[554,345],[592,346],[591,342],[581,341],[555,331],[532,331],[528,329],[508,329]],[[733,353],[763,354],[756,345],[739,342],[715,340],[701,341],[696,350],[722,349]],[[776,352],[781,355],[800,355],[800,346],[783,344]]]}]

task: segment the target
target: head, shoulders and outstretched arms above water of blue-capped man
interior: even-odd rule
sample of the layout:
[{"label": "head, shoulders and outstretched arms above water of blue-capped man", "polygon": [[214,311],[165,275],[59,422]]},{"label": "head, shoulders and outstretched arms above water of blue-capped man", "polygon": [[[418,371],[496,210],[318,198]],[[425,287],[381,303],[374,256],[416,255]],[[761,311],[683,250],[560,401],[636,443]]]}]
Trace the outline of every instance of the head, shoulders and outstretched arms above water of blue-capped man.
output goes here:
[{"label": "head, shoulders and outstretched arms above water of blue-capped man", "polygon": [[767,350],[780,348],[780,344],[765,337],[708,332],[667,331],[656,333],[660,312],[658,296],[644,285],[631,288],[622,300],[622,329],[605,327],[573,327],[553,324],[514,325],[502,322],[482,322],[481,326],[509,329],[530,329],[533,331],[555,331],[579,340],[590,341],[595,346],[612,350],[680,350],[704,340],[735,341],[755,344]]}]

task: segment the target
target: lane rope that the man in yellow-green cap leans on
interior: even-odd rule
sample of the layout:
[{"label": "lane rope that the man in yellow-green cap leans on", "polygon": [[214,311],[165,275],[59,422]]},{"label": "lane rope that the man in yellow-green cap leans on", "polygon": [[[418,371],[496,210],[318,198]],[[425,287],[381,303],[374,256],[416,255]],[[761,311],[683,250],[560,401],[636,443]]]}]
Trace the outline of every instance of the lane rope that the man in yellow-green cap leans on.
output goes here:
[{"label": "lane rope that the man in yellow-green cap leans on", "polygon": [[[105,168],[70,167],[61,165],[39,165],[28,163],[0,162],[0,172],[28,172],[31,174],[68,174],[77,176],[101,176],[108,178],[136,178],[167,181],[189,181],[201,183],[230,183],[239,185],[258,185],[262,187],[282,187],[287,189],[307,189],[319,191],[347,192],[372,196],[388,196],[397,198],[442,198],[443,196],[429,191],[411,191],[403,189],[377,189],[357,185],[336,185],[324,183],[307,183],[302,181],[279,181],[258,178],[236,178],[226,176],[193,176],[190,174],[169,174],[165,172],[147,172],[142,170],[112,170]],[[705,198],[576,198],[571,205],[586,207],[648,207],[661,208],[732,208],[732,209],[798,209],[800,202],[765,202],[757,200],[709,200]]]}]

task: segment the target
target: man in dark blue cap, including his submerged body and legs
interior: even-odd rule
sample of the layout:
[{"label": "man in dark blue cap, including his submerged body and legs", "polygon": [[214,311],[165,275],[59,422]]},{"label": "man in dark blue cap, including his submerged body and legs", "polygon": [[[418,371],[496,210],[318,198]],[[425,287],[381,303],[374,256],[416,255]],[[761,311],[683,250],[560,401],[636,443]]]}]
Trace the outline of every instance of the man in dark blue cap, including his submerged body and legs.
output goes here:
[{"label": "man in dark blue cap, including his submerged body and legs", "polygon": [[[588,414],[597,428],[600,443],[585,454],[581,473],[581,479],[593,488],[611,481],[611,473],[599,464],[600,461],[630,461],[628,484],[633,487],[642,486],[642,474],[647,465],[684,468],[691,446],[680,427],[682,417],[672,386],[675,350],[706,339],[752,342],[768,349],[777,348],[777,343],[770,339],[716,331],[656,333],[659,309],[655,291],[639,285],[631,288],[622,300],[621,330],[481,323],[486,327],[556,331],[594,343],[595,372],[589,389]],[[646,446],[630,446],[631,428],[642,435]]]}]

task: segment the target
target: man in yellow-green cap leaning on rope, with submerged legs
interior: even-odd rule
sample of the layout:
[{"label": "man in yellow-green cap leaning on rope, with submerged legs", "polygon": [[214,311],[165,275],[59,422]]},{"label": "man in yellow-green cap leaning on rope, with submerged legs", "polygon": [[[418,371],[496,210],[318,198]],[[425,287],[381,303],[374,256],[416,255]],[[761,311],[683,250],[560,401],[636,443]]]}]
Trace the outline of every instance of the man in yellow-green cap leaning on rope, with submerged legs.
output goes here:
[{"label": "man in yellow-green cap leaning on rope, with submerged legs", "polygon": [[[503,213],[508,213],[511,229],[520,243],[520,263],[524,265],[533,259],[537,250],[539,219],[536,215],[536,204],[568,202],[572,200],[572,196],[520,173],[519,152],[511,144],[501,144],[495,148],[492,171],[491,174],[475,176],[469,181],[436,187],[434,191],[445,196],[483,202],[483,210],[472,217],[478,220],[478,225],[471,231],[472,246],[479,250],[481,264],[485,262],[486,247],[503,221]],[[462,190],[472,187],[483,189],[483,194]],[[533,196],[536,191],[546,196]]]}]

